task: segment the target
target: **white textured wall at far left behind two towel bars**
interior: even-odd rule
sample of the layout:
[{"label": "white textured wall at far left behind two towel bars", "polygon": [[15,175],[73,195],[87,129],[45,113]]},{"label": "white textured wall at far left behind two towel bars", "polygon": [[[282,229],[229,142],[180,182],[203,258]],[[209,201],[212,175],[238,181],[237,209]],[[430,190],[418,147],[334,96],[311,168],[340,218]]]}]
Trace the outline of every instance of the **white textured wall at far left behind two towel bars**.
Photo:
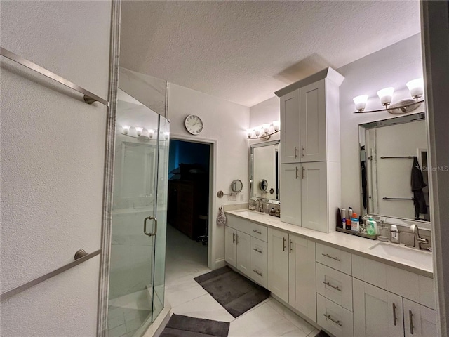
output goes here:
[{"label": "white textured wall at far left behind two towel bars", "polygon": [[[107,98],[110,1],[1,1],[1,46]],[[1,291],[100,249],[107,109],[1,58]],[[1,336],[95,336],[100,256],[1,302]]]}]

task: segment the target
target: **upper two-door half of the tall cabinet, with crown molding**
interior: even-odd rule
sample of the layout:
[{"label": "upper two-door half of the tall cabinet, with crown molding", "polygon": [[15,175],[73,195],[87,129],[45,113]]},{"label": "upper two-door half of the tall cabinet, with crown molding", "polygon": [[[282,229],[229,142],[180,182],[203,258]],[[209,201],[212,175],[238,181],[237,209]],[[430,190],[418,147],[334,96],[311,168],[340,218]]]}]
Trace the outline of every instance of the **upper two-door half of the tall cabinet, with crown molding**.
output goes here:
[{"label": "upper two-door half of the tall cabinet, with crown molding", "polygon": [[276,91],[281,100],[281,163],[340,161],[339,86],[328,67]]}]

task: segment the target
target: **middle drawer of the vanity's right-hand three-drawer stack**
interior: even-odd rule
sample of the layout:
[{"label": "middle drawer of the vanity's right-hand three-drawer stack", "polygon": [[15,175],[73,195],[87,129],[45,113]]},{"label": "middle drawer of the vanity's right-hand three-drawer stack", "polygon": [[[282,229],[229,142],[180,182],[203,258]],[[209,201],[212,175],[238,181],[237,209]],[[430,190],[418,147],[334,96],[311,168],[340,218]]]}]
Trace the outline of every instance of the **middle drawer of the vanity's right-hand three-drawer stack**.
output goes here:
[{"label": "middle drawer of the vanity's right-hand three-drawer stack", "polygon": [[316,263],[316,292],[352,311],[352,277]]}]

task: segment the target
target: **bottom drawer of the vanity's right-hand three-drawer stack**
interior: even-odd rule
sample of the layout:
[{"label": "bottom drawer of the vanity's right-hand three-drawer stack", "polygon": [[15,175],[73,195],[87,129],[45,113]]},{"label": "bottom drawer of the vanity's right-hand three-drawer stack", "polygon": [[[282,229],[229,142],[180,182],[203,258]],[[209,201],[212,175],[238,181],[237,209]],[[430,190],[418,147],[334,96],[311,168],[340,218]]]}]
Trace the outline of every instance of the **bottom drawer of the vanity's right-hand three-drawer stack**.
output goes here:
[{"label": "bottom drawer of the vanity's right-hand three-drawer stack", "polygon": [[316,294],[316,323],[335,337],[354,337],[352,312]]}]

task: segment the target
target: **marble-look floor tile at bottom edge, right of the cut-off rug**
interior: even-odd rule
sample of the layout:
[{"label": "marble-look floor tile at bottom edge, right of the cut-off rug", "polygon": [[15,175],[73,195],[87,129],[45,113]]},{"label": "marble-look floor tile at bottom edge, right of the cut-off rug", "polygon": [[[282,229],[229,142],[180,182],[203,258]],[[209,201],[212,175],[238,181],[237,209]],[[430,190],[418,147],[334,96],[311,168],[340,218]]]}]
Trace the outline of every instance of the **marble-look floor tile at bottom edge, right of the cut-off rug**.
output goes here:
[{"label": "marble-look floor tile at bottom edge, right of the cut-off rug", "polygon": [[231,322],[229,337],[279,337],[295,336],[306,337],[307,333],[300,330],[292,322],[288,321],[268,303],[246,312]]}]

